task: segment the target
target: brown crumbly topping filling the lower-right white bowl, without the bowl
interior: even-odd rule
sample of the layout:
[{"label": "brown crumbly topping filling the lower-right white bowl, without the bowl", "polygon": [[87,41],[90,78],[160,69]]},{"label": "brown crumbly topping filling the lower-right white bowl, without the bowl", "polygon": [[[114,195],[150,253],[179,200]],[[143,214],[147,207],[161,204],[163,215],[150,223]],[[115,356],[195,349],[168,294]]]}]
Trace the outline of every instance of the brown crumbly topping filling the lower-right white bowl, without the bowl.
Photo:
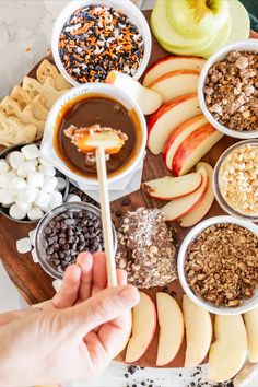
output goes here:
[{"label": "brown crumbly topping filling the lower-right white bowl, without the bowl", "polygon": [[236,224],[212,225],[189,246],[185,272],[197,296],[236,307],[258,288],[258,237]]}]

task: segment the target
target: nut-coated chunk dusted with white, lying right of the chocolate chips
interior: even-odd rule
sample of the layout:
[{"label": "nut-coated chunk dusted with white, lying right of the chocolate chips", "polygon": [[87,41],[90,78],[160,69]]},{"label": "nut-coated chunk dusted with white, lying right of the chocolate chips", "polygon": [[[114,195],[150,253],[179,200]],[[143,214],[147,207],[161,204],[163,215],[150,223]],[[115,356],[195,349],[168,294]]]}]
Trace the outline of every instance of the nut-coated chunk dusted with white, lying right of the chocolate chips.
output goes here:
[{"label": "nut-coated chunk dusted with white, lying right of the chocolate chips", "polygon": [[117,233],[116,262],[139,289],[163,286],[177,278],[172,233],[157,209],[127,212]]}]

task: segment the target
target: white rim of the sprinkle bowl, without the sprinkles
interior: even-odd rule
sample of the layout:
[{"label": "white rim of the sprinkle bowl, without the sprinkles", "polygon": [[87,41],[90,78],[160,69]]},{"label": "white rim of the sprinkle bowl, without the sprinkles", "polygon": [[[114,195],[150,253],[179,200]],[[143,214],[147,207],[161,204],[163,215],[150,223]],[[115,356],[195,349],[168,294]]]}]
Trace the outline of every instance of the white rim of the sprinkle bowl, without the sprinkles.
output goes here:
[{"label": "white rim of the sprinkle bowl, without the sprinkles", "polygon": [[144,54],[142,61],[133,75],[136,80],[138,80],[142,74],[143,71],[145,70],[148,62],[150,60],[151,56],[151,48],[152,48],[152,39],[151,39],[151,32],[149,24],[142,14],[142,12],[130,1],[130,0],[73,0],[68,3],[68,5],[61,11],[59,16],[56,20],[56,23],[54,25],[52,30],[52,35],[51,35],[51,51],[52,51],[52,57],[54,60],[61,72],[61,74],[67,79],[69,83],[71,83],[73,86],[79,86],[81,83],[77,82],[72,77],[69,75],[67,70],[64,69],[62,61],[59,56],[59,49],[58,49],[58,43],[59,43],[59,36],[61,33],[61,30],[68,19],[72,15],[72,13],[78,10],[79,8],[91,5],[91,4],[99,4],[99,5],[107,5],[107,7],[113,7],[116,10],[120,10],[124,12],[129,20],[136,24],[136,26],[139,28],[140,33],[143,36],[143,42],[144,42]]}]

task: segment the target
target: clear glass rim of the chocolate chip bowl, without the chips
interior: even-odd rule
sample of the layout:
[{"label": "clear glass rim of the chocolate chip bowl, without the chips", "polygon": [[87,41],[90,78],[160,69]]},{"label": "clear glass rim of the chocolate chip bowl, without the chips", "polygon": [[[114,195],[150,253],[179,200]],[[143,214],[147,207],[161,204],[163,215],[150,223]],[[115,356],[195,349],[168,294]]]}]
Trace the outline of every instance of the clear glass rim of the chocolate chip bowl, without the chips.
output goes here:
[{"label": "clear glass rim of the chocolate chip bowl, without the chips", "polygon": [[[37,225],[36,234],[35,234],[35,248],[36,248],[37,257],[42,268],[55,279],[62,280],[64,271],[58,271],[58,269],[51,266],[47,259],[46,250],[43,247],[45,228],[57,215],[60,215],[61,213],[67,211],[77,212],[81,210],[92,212],[93,214],[97,215],[99,219],[102,218],[101,210],[95,206],[84,203],[84,202],[69,202],[69,203],[61,204],[55,208],[54,210],[49,211],[48,213],[46,213],[45,216],[39,221]],[[117,235],[116,235],[116,230],[114,227],[114,224],[112,224],[112,228],[113,228],[114,251],[116,253]]]}]

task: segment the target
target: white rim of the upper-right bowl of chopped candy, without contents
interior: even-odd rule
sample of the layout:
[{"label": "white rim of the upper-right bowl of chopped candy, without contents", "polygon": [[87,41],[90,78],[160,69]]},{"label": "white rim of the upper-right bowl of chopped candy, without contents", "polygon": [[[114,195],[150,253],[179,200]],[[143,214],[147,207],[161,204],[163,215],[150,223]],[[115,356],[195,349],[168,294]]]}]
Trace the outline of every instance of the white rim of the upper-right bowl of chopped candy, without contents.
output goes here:
[{"label": "white rim of the upper-right bowl of chopped candy, without contents", "polygon": [[206,83],[206,78],[208,74],[208,71],[210,68],[218,61],[223,60],[226,55],[231,51],[234,50],[248,50],[248,51],[255,51],[258,52],[258,39],[246,39],[246,40],[239,40],[232,43],[227,46],[222,47],[219,51],[213,54],[206,62],[203,66],[200,78],[199,78],[199,84],[198,84],[198,97],[199,97],[199,103],[200,103],[200,108],[208,119],[208,121],[218,130],[220,130],[222,133],[234,137],[236,139],[256,139],[258,138],[258,130],[253,130],[253,131],[237,131],[230,129],[225,127],[224,125],[221,125],[219,121],[215,120],[215,118],[212,116],[212,114],[209,112],[206,99],[204,99],[204,93],[203,93],[203,86]]}]

